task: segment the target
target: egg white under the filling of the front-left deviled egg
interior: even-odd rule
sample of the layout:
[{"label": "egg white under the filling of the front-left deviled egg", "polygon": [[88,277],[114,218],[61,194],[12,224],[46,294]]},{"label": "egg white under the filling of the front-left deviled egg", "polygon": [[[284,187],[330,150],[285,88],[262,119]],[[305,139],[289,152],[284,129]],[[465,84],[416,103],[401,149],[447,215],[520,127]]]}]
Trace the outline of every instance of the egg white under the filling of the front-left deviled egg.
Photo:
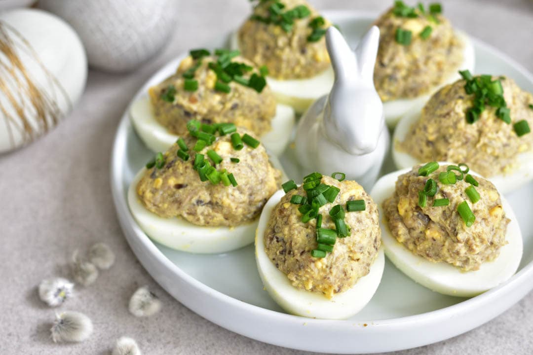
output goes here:
[{"label": "egg white under the filling of the front-left deviled egg", "polygon": [[[287,176],[278,159],[274,156],[269,156],[269,159],[275,168],[281,170],[282,180],[285,181]],[[127,200],[133,218],[152,240],[171,249],[206,254],[236,250],[254,241],[259,218],[235,227],[205,227],[179,217],[163,218],[150,212],[144,208],[136,193],[136,186],[145,172],[146,168],[142,168],[133,179]]]}]

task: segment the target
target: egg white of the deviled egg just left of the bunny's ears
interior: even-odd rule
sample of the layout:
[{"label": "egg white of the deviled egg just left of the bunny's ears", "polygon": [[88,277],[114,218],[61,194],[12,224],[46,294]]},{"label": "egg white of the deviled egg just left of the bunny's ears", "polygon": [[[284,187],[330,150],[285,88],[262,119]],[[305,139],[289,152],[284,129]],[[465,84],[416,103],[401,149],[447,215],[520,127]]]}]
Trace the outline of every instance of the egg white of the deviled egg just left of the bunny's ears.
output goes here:
[{"label": "egg white of the deviled egg just left of the bunny's ears", "polygon": [[[231,49],[239,49],[237,32],[230,37]],[[304,113],[317,98],[329,94],[335,80],[331,65],[318,75],[306,79],[280,80],[267,77],[266,82],[279,103],[292,106],[296,113]]]}]

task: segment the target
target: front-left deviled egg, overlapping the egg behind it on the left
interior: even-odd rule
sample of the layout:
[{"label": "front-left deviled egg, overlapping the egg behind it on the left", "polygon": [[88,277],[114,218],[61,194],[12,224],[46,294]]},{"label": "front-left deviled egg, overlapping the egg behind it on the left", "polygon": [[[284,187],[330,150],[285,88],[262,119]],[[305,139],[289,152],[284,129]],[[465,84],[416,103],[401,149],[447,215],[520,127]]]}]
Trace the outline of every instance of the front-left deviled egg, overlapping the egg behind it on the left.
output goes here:
[{"label": "front-left deviled egg, overlapping the egg behind it on the left", "polygon": [[[166,161],[160,168],[142,168],[135,176],[127,193],[128,205],[152,240],[190,253],[223,253],[253,242],[259,222],[259,216],[254,217],[257,209],[286,176],[276,156],[267,157],[262,145],[232,150],[229,139],[229,135],[217,138],[195,153],[192,138],[186,136],[192,159],[183,161],[176,156],[180,148],[173,145],[161,155]],[[237,185],[200,181],[193,169],[195,154],[204,155],[206,162],[210,154],[215,159],[220,156],[221,162],[213,167],[234,174]],[[232,218],[243,222],[232,225],[228,223]]]}]

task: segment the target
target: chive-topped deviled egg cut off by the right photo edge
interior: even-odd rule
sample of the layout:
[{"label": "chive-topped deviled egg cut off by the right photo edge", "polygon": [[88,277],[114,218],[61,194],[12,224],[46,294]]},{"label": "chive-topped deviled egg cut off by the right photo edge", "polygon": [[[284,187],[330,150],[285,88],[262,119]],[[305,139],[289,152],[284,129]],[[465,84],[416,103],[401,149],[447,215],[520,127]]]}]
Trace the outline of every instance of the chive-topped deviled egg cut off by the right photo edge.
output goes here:
[{"label": "chive-topped deviled egg cut off by the right photo edge", "polygon": [[533,178],[533,95],[506,77],[476,76],[435,93],[394,132],[396,166],[463,161],[507,193]]}]

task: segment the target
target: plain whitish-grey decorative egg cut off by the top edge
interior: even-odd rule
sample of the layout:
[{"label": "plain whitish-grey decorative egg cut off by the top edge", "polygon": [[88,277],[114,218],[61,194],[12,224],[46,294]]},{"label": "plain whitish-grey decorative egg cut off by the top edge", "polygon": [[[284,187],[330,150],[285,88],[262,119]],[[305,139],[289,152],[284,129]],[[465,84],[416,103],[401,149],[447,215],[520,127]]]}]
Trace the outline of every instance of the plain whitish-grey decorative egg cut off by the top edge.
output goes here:
[{"label": "plain whitish-grey decorative egg cut off by the top edge", "polygon": [[172,0],[41,0],[78,32],[91,67],[123,72],[154,56],[172,34],[176,22]]}]

